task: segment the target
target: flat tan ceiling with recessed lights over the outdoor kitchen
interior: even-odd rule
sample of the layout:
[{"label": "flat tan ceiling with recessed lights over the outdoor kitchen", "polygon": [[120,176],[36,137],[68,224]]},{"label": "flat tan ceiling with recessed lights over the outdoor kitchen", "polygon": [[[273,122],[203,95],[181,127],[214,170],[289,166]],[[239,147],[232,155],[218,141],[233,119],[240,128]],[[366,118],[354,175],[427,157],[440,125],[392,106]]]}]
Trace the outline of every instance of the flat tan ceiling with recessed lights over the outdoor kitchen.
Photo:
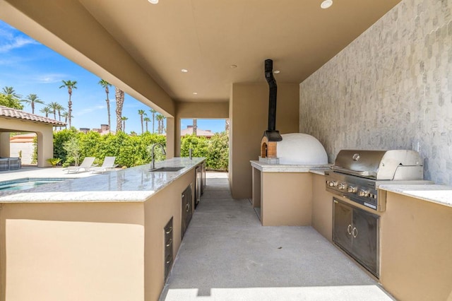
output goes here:
[{"label": "flat tan ceiling with recessed lights over the outdoor kitchen", "polygon": [[278,82],[301,83],[400,2],[333,0],[321,9],[321,0],[79,1],[183,102],[227,101],[232,83],[265,82],[265,59]]}]

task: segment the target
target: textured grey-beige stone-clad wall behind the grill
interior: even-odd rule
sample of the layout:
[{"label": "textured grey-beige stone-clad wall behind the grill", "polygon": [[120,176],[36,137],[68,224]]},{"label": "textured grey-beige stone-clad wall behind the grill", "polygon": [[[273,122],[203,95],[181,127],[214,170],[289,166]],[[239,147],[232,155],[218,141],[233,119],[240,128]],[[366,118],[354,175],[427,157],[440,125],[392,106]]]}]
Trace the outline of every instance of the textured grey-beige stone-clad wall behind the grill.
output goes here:
[{"label": "textured grey-beige stone-clad wall behind the grill", "polygon": [[451,14],[450,0],[403,0],[300,83],[299,131],[330,163],[419,142],[424,178],[452,185]]}]

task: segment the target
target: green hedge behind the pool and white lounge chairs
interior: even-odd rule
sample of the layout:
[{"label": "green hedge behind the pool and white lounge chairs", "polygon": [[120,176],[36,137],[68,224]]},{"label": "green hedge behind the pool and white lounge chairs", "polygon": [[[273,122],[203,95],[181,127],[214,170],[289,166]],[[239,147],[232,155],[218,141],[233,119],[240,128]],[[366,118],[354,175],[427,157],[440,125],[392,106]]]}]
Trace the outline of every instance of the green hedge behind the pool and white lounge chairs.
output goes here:
[{"label": "green hedge behind the pool and white lounge chairs", "polygon": [[[81,158],[96,157],[96,163],[103,162],[106,156],[115,156],[115,163],[119,166],[136,166],[150,163],[149,147],[153,143],[160,143],[166,147],[166,137],[159,134],[144,133],[138,136],[129,136],[123,132],[118,134],[100,135],[95,131],[87,134],[75,128],[54,132],[54,158],[61,159],[61,163],[73,164],[71,158],[64,150],[64,143],[76,138],[80,146]],[[209,170],[227,170],[229,162],[228,137],[225,133],[215,134],[210,139],[206,137],[187,135],[181,139],[181,156],[189,156],[189,148],[193,148],[194,157],[205,157]],[[36,149],[35,149],[36,152]],[[164,160],[160,148],[155,149],[155,160]]]}]

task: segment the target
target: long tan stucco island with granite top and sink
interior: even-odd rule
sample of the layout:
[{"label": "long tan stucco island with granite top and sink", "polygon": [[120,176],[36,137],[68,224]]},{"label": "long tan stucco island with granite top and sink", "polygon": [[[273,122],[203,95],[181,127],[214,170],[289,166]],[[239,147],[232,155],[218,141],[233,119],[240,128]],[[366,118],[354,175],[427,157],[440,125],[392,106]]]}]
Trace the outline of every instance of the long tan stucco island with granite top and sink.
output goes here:
[{"label": "long tan stucco island with granite top and sink", "polygon": [[157,300],[182,240],[182,194],[204,160],[0,195],[0,300]]}]

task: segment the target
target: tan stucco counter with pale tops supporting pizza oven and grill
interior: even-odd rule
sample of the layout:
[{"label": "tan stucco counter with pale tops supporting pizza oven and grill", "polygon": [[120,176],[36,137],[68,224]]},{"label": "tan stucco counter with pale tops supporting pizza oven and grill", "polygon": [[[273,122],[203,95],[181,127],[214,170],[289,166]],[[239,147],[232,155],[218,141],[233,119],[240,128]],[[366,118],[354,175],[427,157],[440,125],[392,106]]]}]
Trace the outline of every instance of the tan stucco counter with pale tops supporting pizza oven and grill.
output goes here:
[{"label": "tan stucco counter with pale tops supporting pizza oven and grill", "polygon": [[380,217],[376,281],[397,300],[452,300],[452,187],[382,184],[379,194],[386,199],[386,209],[376,211],[326,191],[322,167],[258,161],[251,166],[253,206],[261,207],[263,225],[295,220],[311,225],[334,244],[334,199],[374,213]]}]

